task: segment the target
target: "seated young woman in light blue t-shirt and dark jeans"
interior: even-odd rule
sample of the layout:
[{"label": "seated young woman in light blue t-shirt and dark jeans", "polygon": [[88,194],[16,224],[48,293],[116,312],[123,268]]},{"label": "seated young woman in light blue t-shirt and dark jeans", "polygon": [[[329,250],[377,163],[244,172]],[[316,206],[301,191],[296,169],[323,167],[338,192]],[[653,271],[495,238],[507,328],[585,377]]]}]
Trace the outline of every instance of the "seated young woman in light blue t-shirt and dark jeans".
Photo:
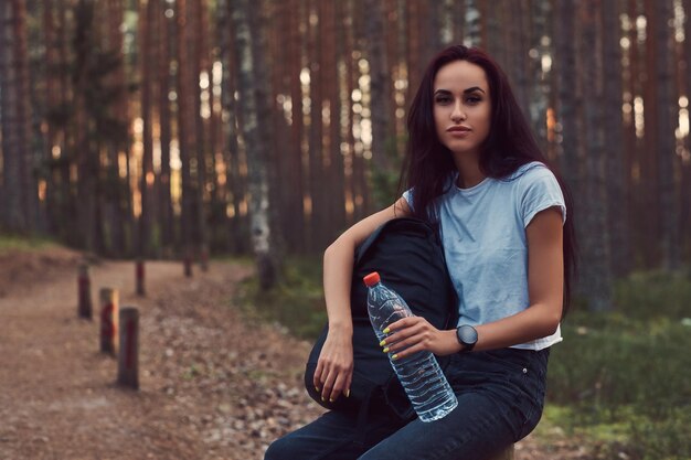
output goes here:
[{"label": "seated young woman in light blue t-shirt and dark jeans", "polygon": [[432,61],[407,124],[407,191],[325,253],[329,335],[315,386],[332,400],[349,394],[355,247],[384,222],[416,216],[439,228],[459,299],[458,328],[406,318],[390,327],[382,346],[397,359],[421,350],[451,355],[446,374],[458,407],[404,426],[374,415],[360,442],[353,417],[330,411],[274,442],[267,460],[486,460],[541,417],[549,350],[562,340],[574,266],[570,194],[506,75],[480,50],[455,45]]}]

